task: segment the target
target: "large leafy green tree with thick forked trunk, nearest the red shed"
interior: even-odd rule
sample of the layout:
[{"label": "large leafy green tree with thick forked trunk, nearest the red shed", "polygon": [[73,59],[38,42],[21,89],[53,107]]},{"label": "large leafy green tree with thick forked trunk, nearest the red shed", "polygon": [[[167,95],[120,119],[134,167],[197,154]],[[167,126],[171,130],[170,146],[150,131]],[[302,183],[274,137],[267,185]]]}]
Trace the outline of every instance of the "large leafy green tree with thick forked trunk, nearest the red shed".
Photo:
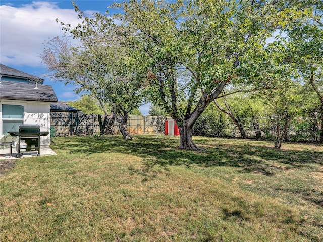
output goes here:
[{"label": "large leafy green tree with thick forked trunk, nearest the red shed", "polygon": [[115,17],[135,33],[128,40],[145,60],[149,98],[179,126],[179,148],[197,149],[193,125],[226,86],[272,88],[288,73],[279,65],[283,53],[267,51],[266,39],[304,14],[289,3],[129,0],[114,5],[123,10]]}]

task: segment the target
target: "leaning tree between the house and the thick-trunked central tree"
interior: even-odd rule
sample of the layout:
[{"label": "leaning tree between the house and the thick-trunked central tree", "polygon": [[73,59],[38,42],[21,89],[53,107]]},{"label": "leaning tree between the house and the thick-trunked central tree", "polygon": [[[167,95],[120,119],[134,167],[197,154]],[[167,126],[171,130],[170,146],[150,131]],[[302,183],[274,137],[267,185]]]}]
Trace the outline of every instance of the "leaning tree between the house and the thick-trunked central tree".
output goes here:
[{"label": "leaning tree between the house and the thick-trunked central tree", "polygon": [[81,85],[89,90],[104,108],[108,104],[120,123],[125,139],[131,139],[127,131],[128,115],[142,104],[141,88],[144,82],[133,62],[132,50],[121,45],[122,36],[116,35],[116,25],[107,15],[85,16],[73,3],[82,24],[72,28],[62,23],[66,34],[78,40],[72,46],[55,38],[46,45],[42,59],[59,81]]}]

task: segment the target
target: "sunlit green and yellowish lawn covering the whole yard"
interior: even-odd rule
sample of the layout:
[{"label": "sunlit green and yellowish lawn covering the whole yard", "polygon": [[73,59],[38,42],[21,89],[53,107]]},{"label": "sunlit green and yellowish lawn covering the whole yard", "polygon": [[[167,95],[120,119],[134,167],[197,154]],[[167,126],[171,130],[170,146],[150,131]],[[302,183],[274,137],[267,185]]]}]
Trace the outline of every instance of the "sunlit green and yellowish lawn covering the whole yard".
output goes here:
[{"label": "sunlit green and yellowish lawn covering the whole yard", "polygon": [[0,241],[323,241],[323,146],[62,137],[0,175]]}]

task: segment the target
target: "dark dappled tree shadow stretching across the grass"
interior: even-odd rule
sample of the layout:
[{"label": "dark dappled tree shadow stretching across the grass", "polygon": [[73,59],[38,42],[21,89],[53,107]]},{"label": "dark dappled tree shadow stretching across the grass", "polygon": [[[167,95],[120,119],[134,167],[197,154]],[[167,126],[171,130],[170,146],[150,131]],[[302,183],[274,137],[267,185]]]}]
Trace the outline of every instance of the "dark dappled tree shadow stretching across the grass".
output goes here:
[{"label": "dark dappled tree shadow stretching across the grass", "polygon": [[[62,138],[55,149],[85,154],[133,154],[145,160],[146,171],[154,166],[165,169],[168,166],[180,165],[230,166],[238,168],[241,172],[273,175],[275,171],[283,169],[284,165],[299,168],[314,163],[323,164],[323,152],[319,151],[278,150],[248,140],[197,139],[196,143],[205,150],[180,150],[177,148],[178,137],[135,136],[133,140],[124,140],[120,136],[68,137]],[[273,165],[273,162],[282,165]]]}]

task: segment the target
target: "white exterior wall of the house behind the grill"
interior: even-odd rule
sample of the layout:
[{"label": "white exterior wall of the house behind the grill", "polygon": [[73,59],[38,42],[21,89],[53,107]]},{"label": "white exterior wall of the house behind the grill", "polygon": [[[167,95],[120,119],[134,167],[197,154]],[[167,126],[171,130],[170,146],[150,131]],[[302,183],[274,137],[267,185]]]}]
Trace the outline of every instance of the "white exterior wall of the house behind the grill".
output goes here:
[{"label": "white exterior wall of the house behind the grill", "polygon": [[[50,130],[50,102],[40,101],[14,101],[0,100],[0,137],[3,137],[2,131],[2,104],[23,105],[24,118],[23,124],[40,125],[40,131]],[[50,134],[40,137],[40,145],[50,144]]]}]

